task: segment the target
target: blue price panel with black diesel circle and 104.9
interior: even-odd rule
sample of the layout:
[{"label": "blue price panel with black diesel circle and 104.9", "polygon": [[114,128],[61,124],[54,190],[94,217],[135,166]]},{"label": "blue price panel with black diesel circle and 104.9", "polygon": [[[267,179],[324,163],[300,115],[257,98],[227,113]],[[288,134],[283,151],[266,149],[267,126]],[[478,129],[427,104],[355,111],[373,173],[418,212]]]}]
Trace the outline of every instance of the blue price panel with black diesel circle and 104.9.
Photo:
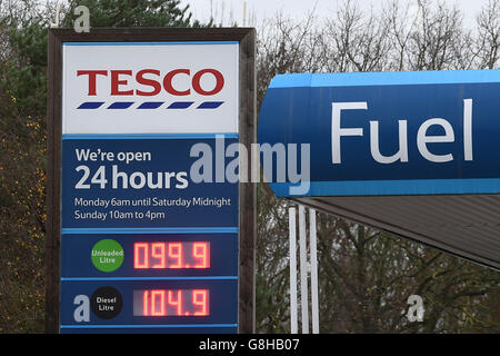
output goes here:
[{"label": "blue price panel with black diesel circle and 104.9", "polygon": [[[61,319],[63,333],[234,333],[238,280],[62,280],[61,307],[76,315]],[[73,296],[88,296],[89,318]],[[77,298],[77,301],[80,301]],[[84,326],[87,325],[87,326]]]}]

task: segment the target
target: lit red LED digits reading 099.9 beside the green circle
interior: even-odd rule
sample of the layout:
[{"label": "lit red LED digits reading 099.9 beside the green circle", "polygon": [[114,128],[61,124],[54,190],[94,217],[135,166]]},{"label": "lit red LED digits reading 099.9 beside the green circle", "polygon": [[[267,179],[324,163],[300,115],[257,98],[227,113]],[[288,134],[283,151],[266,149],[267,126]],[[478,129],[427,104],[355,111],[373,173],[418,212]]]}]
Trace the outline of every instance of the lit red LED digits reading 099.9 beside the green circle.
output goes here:
[{"label": "lit red LED digits reading 099.9 beside the green circle", "polygon": [[133,244],[133,268],[210,268],[210,243],[146,243]]}]

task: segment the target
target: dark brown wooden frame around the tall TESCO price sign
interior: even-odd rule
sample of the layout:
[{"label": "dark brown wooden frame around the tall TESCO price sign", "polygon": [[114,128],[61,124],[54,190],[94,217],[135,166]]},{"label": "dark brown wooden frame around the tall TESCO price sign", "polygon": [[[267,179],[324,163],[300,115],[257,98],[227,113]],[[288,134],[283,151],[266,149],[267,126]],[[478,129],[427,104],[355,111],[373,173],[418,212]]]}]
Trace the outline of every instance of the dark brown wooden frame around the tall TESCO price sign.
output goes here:
[{"label": "dark brown wooden frame around the tall TESCO price sign", "polygon": [[[257,142],[256,30],[253,28],[100,28],[89,33],[72,29],[49,30],[48,66],[48,186],[46,222],[46,333],[60,326],[61,240],[61,120],[63,42],[238,41],[239,42],[239,142],[250,151]],[[254,246],[257,189],[239,184],[239,333],[254,333]]]}]

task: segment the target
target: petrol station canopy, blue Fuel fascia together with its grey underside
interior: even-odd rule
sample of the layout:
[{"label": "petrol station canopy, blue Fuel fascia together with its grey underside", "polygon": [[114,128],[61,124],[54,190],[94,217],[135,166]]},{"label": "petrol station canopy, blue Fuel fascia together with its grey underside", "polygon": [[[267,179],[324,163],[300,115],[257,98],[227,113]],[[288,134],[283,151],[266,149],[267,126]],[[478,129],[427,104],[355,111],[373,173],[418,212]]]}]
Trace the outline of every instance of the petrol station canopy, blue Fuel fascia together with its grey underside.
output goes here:
[{"label": "petrol station canopy, blue Fuel fascia together with its grey underside", "polygon": [[499,70],[277,76],[258,140],[288,147],[289,166],[267,179],[278,197],[500,269],[498,92]]}]

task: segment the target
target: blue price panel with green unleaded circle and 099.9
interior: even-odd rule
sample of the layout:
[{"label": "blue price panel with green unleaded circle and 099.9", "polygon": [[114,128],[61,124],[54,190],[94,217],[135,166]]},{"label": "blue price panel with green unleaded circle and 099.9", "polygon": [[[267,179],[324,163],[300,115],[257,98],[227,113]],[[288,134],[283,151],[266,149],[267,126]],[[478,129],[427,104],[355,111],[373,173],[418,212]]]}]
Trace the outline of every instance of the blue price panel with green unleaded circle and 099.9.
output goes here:
[{"label": "blue price panel with green unleaded circle and 099.9", "polygon": [[[66,278],[236,276],[238,235],[64,234]],[[86,251],[84,254],[71,254]]]}]

